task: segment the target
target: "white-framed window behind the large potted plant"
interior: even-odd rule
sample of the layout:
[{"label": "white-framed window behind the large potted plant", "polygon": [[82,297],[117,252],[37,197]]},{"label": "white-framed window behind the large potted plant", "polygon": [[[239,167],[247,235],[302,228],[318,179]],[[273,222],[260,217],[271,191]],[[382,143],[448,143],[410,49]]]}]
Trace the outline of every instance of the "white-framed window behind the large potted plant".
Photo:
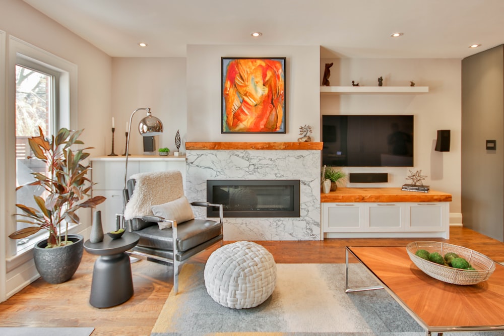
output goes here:
[{"label": "white-framed window behind the large potted plant", "polygon": [[[15,191],[17,186],[34,180],[31,173],[46,171],[40,160],[28,159],[32,156],[28,138],[39,135],[38,127],[46,137],[54,134],[60,127],[78,128],[77,65],[13,36],[9,38],[9,45],[8,66],[13,79],[12,86],[10,85],[13,95],[10,97],[9,110],[13,113],[9,114],[7,119],[8,123],[15,127],[10,128],[12,132],[8,131],[8,139],[12,141],[8,142],[10,150],[6,161],[9,166],[7,170],[10,172],[6,183],[9,195],[7,206],[18,212],[15,207],[18,203],[38,208],[33,195],[42,195],[45,191],[37,186]],[[8,219],[8,234],[30,226],[16,222],[13,216]],[[25,252],[46,235],[47,231],[41,230],[26,239],[8,239],[8,268],[15,267],[15,264],[29,258],[30,254]],[[12,265],[9,265],[10,260]]]}]

